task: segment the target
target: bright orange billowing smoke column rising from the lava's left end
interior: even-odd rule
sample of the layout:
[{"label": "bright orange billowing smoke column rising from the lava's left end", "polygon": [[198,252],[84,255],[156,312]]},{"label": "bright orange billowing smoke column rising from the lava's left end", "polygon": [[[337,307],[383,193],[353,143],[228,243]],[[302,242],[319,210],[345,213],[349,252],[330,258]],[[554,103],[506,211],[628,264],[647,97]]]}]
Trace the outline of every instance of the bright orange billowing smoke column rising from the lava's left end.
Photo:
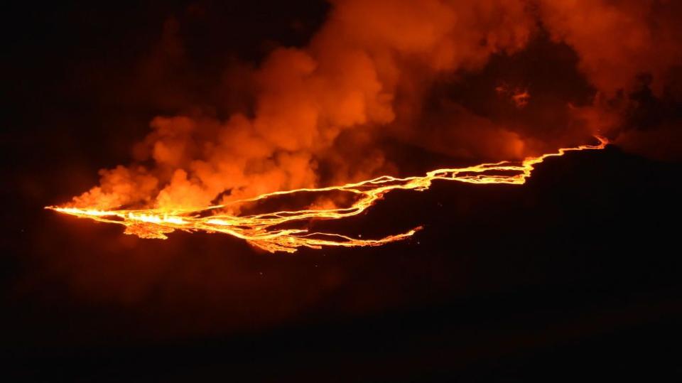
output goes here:
[{"label": "bright orange billowing smoke column rising from the lava's left end", "polygon": [[[102,171],[101,185],[75,203],[205,206],[315,185],[318,158],[333,157],[342,131],[394,122],[407,63],[479,68],[492,53],[523,48],[532,26],[518,1],[335,1],[308,47],[278,48],[254,73],[252,116],[158,117],[137,150],[153,166]],[[361,170],[341,178],[384,166],[380,153],[347,161]]]}]

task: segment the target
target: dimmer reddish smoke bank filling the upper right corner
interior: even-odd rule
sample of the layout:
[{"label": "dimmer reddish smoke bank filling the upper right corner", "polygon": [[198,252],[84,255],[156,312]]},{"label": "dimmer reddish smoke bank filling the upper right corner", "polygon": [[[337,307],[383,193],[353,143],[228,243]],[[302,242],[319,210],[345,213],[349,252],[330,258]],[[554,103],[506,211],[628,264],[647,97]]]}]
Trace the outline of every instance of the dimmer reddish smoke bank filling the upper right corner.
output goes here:
[{"label": "dimmer reddish smoke bank filling the upper right corner", "polygon": [[[668,104],[668,109],[678,108],[682,101],[678,80],[682,4],[669,0],[541,0],[539,9],[551,37],[578,53],[580,71],[597,89],[594,103],[576,112],[595,129],[617,136],[615,144],[624,149],[656,158],[678,158],[682,121],[666,119],[666,110],[652,109],[651,101]],[[637,114],[659,116],[637,122],[632,119]]]}]

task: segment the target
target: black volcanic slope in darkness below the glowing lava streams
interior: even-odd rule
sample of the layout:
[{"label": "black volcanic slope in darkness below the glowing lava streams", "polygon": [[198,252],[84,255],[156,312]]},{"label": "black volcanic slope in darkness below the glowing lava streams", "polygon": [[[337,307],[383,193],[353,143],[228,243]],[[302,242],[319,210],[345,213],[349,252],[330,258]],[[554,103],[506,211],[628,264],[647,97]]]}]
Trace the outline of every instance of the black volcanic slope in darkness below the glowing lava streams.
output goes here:
[{"label": "black volcanic slope in darkness below the glowing lava streams", "polygon": [[41,210],[50,193],[14,195],[1,265],[4,374],[681,375],[681,176],[677,164],[613,147],[572,153],[522,187],[438,183],[343,224],[377,234],[423,224],[408,242],[293,256],[219,235],[137,239]]}]

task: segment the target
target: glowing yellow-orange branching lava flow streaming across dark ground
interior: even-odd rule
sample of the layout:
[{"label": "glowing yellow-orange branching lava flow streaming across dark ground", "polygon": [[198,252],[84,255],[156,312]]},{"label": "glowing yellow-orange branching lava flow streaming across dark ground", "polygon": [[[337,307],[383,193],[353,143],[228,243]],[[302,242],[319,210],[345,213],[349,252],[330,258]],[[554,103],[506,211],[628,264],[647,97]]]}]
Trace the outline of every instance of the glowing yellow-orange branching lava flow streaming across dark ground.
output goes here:
[{"label": "glowing yellow-orange branching lava flow streaming across dark ground", "polygon": [[355,200],[349,207],[301,210],[283,210],[255,215],[230,215],[224,213],[227,205],[215,205],[200,209],[146,209],[146,210],[96,210],[76,207],[45,207],[77,217],[90,218],[99,222],[115,223],[126,227],[126,234],[135,234],[142,238],[166,239],[166,234],[175,230],[187,232],[222,232],[245,239],[256,247],[269,252],[296,252],[299,247],[320,249],[323,246],[379,246],[389,242],[406,239],[415,234],[421,227],[408,232],[389,235],[381,239],[358,239],[332,232],[310,232],[305,228],[286,228],[288,224],[309,222],[310,220],[340,220],[359,215],[377,203],[391,190],[427,190],[433,180],[456,180],[465,183],[505,183],[522,185],[537,163],[545,158],[563,156],[568,151],[603,149],[608,141],[597,136],[599,144],[582,145],[574,148],[559,149],[556,153],[529,157],[524,161],[501,161],[483,163],[465,168],[443,168],[426,173],[426,176],[396,178],[381,176],[359,183],[330,186],[327,188],[303,188],[296,190],[266,193],[255,198],[238,200],[230,205],[253,203],[281,195],[294,193],[352,193]]}]

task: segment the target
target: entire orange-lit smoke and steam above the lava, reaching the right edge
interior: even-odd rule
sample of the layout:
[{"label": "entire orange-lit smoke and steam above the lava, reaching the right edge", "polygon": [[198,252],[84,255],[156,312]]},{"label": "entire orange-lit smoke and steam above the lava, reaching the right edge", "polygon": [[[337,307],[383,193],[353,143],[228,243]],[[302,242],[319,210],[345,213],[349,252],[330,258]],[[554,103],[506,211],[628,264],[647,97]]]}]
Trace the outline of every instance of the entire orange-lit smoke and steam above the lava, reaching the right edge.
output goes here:
[{"label": "entire orange-lit smoke and steam above the lava, reaching the right edge", "polygon": [[334,0],[305,48],[242,70],[247,108],[156,117],[136,163],[102,170],[73,204],[202,207],[395,173],[387,141],[501,160],[598,131],[674,157],[680,16],[664,0]]}]

